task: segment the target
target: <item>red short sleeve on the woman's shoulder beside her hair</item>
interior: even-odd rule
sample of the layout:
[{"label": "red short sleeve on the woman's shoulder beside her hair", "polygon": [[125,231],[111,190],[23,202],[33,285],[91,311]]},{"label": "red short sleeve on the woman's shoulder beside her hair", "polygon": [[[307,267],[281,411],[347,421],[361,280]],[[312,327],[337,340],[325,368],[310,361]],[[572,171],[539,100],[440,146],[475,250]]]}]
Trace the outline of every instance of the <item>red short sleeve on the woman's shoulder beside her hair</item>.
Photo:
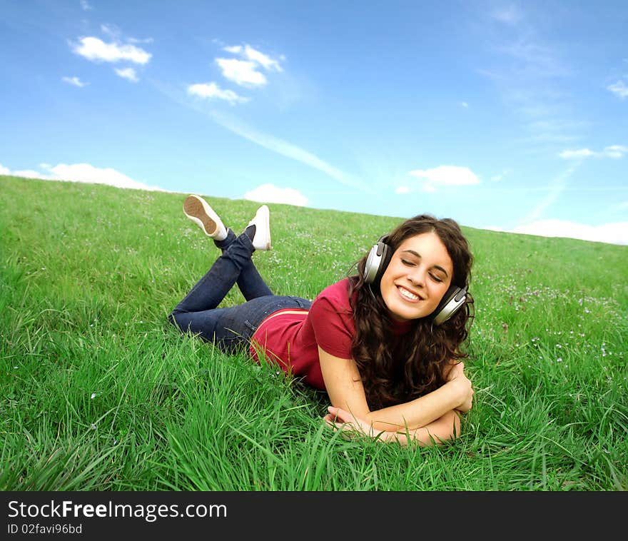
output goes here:
[{"label": "red short sleeve on the woman's shoulder beside her hair", "polygon": [[351,342],[355,333],[347,286],[347,280],[341,280],[325,288],[315,298],[308,315],[316,343],[326,353],[341,359],[351,358]]}]

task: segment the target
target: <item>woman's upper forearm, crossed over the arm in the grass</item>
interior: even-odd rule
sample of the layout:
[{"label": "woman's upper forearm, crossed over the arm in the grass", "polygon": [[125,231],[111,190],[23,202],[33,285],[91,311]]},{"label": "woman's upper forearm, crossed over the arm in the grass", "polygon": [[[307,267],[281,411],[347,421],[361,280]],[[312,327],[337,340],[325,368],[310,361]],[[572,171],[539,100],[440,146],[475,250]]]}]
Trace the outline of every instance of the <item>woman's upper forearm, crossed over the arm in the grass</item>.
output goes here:
[{"label": "woman's upper forearm, crossed over the arm in the grass", "polygon": [[390,433],[412,431],[427,428],[427,425],[440,420],[447,412],[458,408],[460,403],[460,390],[455,382],[450,381],[432,393],[410,402],[370,411],[364,420],[371,423],[376,430]]}]

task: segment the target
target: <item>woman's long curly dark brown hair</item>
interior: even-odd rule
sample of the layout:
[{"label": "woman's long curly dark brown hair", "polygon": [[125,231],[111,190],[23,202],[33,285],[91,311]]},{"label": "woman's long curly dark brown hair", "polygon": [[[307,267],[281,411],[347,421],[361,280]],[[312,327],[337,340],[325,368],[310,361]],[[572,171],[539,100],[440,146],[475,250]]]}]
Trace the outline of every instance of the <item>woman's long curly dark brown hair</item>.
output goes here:
[{"label": "woman's long curly dark brown hair", "polygon": [[[401,223],[386,244],[395,253],[405,239],[436,233],[453,263],[452,284],[468,287],[473,257],[460,226],[450,219],[422,214]],[[451,360],[467,358],[460,350],[473,318],[473,298],[467,291],[465,305],[441,325],[432,318],[412,320],[411,328],[393,351],[394,322],[380,293],[379,283],[363,279],[368,256],[358,262],[358,275],[349,278],[349,298],[355,320],[352,354],[358,365],[369,407],[373,410],[407,402],[430,393],[447,382]]]}]

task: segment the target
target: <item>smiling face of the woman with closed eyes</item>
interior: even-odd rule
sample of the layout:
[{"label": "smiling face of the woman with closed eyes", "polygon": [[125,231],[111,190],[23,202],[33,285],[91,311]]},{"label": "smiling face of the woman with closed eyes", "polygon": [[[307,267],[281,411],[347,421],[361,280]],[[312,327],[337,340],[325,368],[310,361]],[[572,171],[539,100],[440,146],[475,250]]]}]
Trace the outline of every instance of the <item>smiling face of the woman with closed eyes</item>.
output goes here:
[{"label": "smiling face of the woman with closed eyes", "polygon": [[406,238],[380,283],[384,303],[399,321],[430,315],[449,288],[453,262],[436,233]]}]

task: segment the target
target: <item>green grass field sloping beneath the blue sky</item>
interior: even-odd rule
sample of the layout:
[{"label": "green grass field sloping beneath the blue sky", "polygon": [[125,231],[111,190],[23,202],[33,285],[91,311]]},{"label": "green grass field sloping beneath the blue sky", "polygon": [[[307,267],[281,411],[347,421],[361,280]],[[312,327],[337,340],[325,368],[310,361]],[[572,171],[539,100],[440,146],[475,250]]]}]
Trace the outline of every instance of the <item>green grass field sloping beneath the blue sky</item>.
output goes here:
[{"label": "green grass field sloping beneath the blue sky", "polygon": [[[237,232],[258,207],[206,195]],[[454,443],[403,448],[344,440],[323,393],[167,323],[218,256],[184,198],[0,176],[1,490],[628,488],[627,246],[463,228],[474,408]],[[306,298],[401,221],[269,206],[255,263]]]}]

